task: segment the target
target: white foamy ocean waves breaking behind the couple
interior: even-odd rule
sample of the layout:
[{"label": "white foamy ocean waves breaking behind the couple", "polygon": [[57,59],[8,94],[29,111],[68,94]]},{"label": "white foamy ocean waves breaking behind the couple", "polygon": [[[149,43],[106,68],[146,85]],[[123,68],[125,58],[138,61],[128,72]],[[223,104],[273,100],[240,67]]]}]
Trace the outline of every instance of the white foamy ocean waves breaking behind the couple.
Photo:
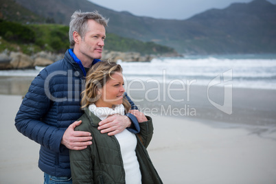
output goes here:
[{"label": "white foamy ocean waves breaking behind the couple", "polygon": [[[156,80],[170,83],[206,86],[220,76],[229,78],[233,87],[276,89],[276,54],[247,54],[224,56],[185,56],[184,58],[154,58],[150,62],[122,62],[127,80]],[[36,69],[0,71],[0,76],[34,77]],[[180,81],[179,81],[180,82]],[[222,86],[223,82],[217,84]]]}]

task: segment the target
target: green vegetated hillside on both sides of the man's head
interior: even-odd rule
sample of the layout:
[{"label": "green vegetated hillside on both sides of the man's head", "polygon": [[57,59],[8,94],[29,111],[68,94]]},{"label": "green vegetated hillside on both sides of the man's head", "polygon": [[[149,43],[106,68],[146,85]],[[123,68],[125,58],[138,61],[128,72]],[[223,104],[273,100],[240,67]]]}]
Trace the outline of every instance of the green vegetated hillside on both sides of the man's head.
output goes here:
[{"label": "green vegetated hillside on both sides of the man's head", "polygon": [[[23,25],[0,20],[0,51],[22,51],[34,54],[38,51],[65,52],[69,48],[69,27],[58,24]],[[131,38],[123,38],[115,34],[106,34],[105,49],[112,51],[136,51],[140,54],[174,53],[174,49],[157,45],[152,42],[142,42]]]}]

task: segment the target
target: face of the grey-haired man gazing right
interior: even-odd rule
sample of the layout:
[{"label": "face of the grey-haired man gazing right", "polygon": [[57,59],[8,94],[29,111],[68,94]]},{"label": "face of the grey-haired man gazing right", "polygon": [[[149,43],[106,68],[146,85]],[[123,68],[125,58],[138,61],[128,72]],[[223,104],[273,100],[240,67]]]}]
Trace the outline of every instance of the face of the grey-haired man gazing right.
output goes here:
[{"label": "face of the grey-haired man gazing right", "polygon": [[84,60],[102,58],[106,29],[94,20],[87,21],[87,33],[80,39],[79,51]]}]

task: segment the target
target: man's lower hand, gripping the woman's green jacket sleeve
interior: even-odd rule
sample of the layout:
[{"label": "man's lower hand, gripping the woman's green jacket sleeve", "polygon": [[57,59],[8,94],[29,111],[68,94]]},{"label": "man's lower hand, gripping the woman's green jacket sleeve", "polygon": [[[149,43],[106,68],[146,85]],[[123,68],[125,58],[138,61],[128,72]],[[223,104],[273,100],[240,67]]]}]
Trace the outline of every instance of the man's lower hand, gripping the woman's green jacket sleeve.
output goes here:
[{"label": "man's lower hand, gripping the woman's green jacket sleeve", "polygon": [[82,121],[73,122],[62,137],[61,143],[70,150],[83,150],[92,144],[91,133],[74,130],[81,123]]}]

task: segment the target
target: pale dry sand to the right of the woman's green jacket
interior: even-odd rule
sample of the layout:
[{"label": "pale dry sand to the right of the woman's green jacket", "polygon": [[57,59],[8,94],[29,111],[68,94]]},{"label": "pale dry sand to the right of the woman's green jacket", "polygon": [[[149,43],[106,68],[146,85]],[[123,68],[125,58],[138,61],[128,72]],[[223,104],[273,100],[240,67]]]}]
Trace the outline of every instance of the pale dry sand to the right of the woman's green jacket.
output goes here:
[{"label": "pale dry sand to the right of the woman's green jacket", "polygon": [[154,117],[148,148],[164,183],[276,183],[276,143],[242,128]]}]

